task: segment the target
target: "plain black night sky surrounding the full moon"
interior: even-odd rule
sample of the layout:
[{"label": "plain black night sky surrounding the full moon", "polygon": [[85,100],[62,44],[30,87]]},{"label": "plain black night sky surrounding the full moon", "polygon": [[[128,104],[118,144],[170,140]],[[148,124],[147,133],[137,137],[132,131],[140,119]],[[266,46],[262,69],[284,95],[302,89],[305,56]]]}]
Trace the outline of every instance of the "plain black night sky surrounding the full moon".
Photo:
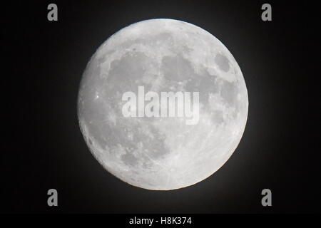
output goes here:
[{"label": "plain black night sky surrounding the full moon", "polygon": [[[1,8],[1,212],[321,212],[317,6],[268,1],[15,1]],[[81,75],[96,48],[137,21],[170,18],[212,33],[248,88],[248,123],[230,160],[197,185],[144,190],[106,172],[78,127]],[[112,133],[111,133],[112,134]],[[58,190],[58,207],[47,190]],[[272,207],[262,207],[264,188]]]}]

